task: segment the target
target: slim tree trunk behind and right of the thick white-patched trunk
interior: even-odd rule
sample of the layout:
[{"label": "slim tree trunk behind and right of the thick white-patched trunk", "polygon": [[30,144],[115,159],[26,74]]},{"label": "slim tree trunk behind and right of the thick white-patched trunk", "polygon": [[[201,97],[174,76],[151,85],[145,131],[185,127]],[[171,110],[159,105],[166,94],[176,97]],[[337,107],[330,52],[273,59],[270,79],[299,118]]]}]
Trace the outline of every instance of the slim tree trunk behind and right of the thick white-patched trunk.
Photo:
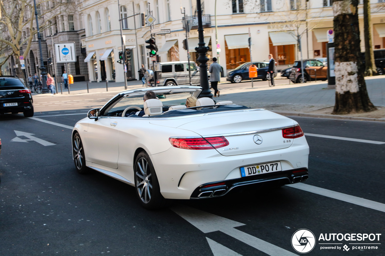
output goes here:
[{"label": "slim tree trunk behind and right of the thick white-patched trunk", "polygon": [[377,75],[372,46],[372,28],[370,27],[370,0],[363,0],[363,33],[365,38],[365,75]]}]

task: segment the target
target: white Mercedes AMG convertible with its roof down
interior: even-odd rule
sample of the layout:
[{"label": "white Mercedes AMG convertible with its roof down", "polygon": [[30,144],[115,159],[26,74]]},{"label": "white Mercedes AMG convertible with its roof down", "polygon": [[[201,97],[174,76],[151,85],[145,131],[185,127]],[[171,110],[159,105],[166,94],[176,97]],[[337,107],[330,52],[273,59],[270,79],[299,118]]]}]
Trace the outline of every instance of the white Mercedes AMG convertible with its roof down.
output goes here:
[{"label": "white Mercedes AMG convertible with its roof down", "polygon": [[[159,99],[144,102],[148,90]],[[147,209],[167,199],[214,198],[241,186],[308,178],[309,146],[296,121],[210,98],[186,108],[186,98],[198,98],[202,90],[122,91],[90,110],[72,133],[77,171],[93,169],[135,186]],[[146,115],[137,116],[142,109]]]}]

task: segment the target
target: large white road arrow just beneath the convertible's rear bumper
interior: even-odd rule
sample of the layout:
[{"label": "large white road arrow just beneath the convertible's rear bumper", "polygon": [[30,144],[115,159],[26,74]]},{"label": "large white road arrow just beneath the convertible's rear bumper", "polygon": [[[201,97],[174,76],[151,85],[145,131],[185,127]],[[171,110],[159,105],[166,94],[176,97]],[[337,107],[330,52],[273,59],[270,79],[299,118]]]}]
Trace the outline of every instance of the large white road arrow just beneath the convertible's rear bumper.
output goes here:
[{"label": "large white road arrow just beneath the convertible's rear bumper", "polygon": [[243,223],[226,219],[211,213],[206,213],[188,206],[174,206],[170,209],[182,218],[186,219],[186,221],[194,225],[203,233],[222,231],[223,233],[228,234],[229,236],[232,236],[233,238],[238,239],[239,241],[242,241],[243,243],[246,243],[268,255],[296,256],[296,254],[291,253],[290,251],[286,251],[285,249],[275,246],[274,244],[235,229],[235,227],[245,225]]}]

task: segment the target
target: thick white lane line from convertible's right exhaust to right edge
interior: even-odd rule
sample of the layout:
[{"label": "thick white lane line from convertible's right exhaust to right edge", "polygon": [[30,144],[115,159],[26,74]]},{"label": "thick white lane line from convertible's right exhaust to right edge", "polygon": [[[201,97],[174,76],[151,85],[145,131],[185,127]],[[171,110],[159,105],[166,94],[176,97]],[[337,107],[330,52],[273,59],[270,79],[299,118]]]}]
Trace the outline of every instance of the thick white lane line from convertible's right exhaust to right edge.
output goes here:
[{"label": "thick white lane line from convertible's right exhaust to right edge", "polygon": [[360,206],[363,206],[363,207],[366,207],[366,208],[370,208],[370,209],[374,209],[374,210],[385,212],[385,204],[378,203],[378,202],[375,202],[375,201],[372,201],[372,200],[368,200],[368,199],[364,199],[364,198],[360,198],[360,197],[357,197],[357,196],[351,196],[351,195],[348,195],[348,194],[343,194],[343,193],[340,193],[340,192],[336,192],[336,191],[332,191],[332,190],[327,190],[325,188],[319,188],[319,187],[307,185],[307,184],[304,184],[304,183],[295,183],[295,184],[289,184],[289,185],[286,185],[286,186],[289,186],[289,187],[292,187],[292,188],[297,188],[299,190],[308,191],[308,192],[315,193],[315,194],[320,194],[321,196],[327,196],[327,197],[338,199],[338,200],[341,200],[341,201],[344,201],[344,202],[348,202],[348,203],[352,203],[352,204],[357,204],[357,205],[360,205]]}]

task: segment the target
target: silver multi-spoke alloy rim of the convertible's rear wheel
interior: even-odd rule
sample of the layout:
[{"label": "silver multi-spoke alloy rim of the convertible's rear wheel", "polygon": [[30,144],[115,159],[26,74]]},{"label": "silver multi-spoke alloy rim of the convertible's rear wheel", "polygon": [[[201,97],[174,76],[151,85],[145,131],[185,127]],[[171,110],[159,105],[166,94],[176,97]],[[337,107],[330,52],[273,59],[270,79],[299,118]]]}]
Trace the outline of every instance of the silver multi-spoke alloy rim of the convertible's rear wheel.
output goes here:
[{"label": "silver multi-spoke alloy rim of the convertible's rear wheel", "polygon": [[149,163],[145,158],[139,158],[135,172],[136,189],[143,203],[149,203],[152,196],[152,177]]}]

